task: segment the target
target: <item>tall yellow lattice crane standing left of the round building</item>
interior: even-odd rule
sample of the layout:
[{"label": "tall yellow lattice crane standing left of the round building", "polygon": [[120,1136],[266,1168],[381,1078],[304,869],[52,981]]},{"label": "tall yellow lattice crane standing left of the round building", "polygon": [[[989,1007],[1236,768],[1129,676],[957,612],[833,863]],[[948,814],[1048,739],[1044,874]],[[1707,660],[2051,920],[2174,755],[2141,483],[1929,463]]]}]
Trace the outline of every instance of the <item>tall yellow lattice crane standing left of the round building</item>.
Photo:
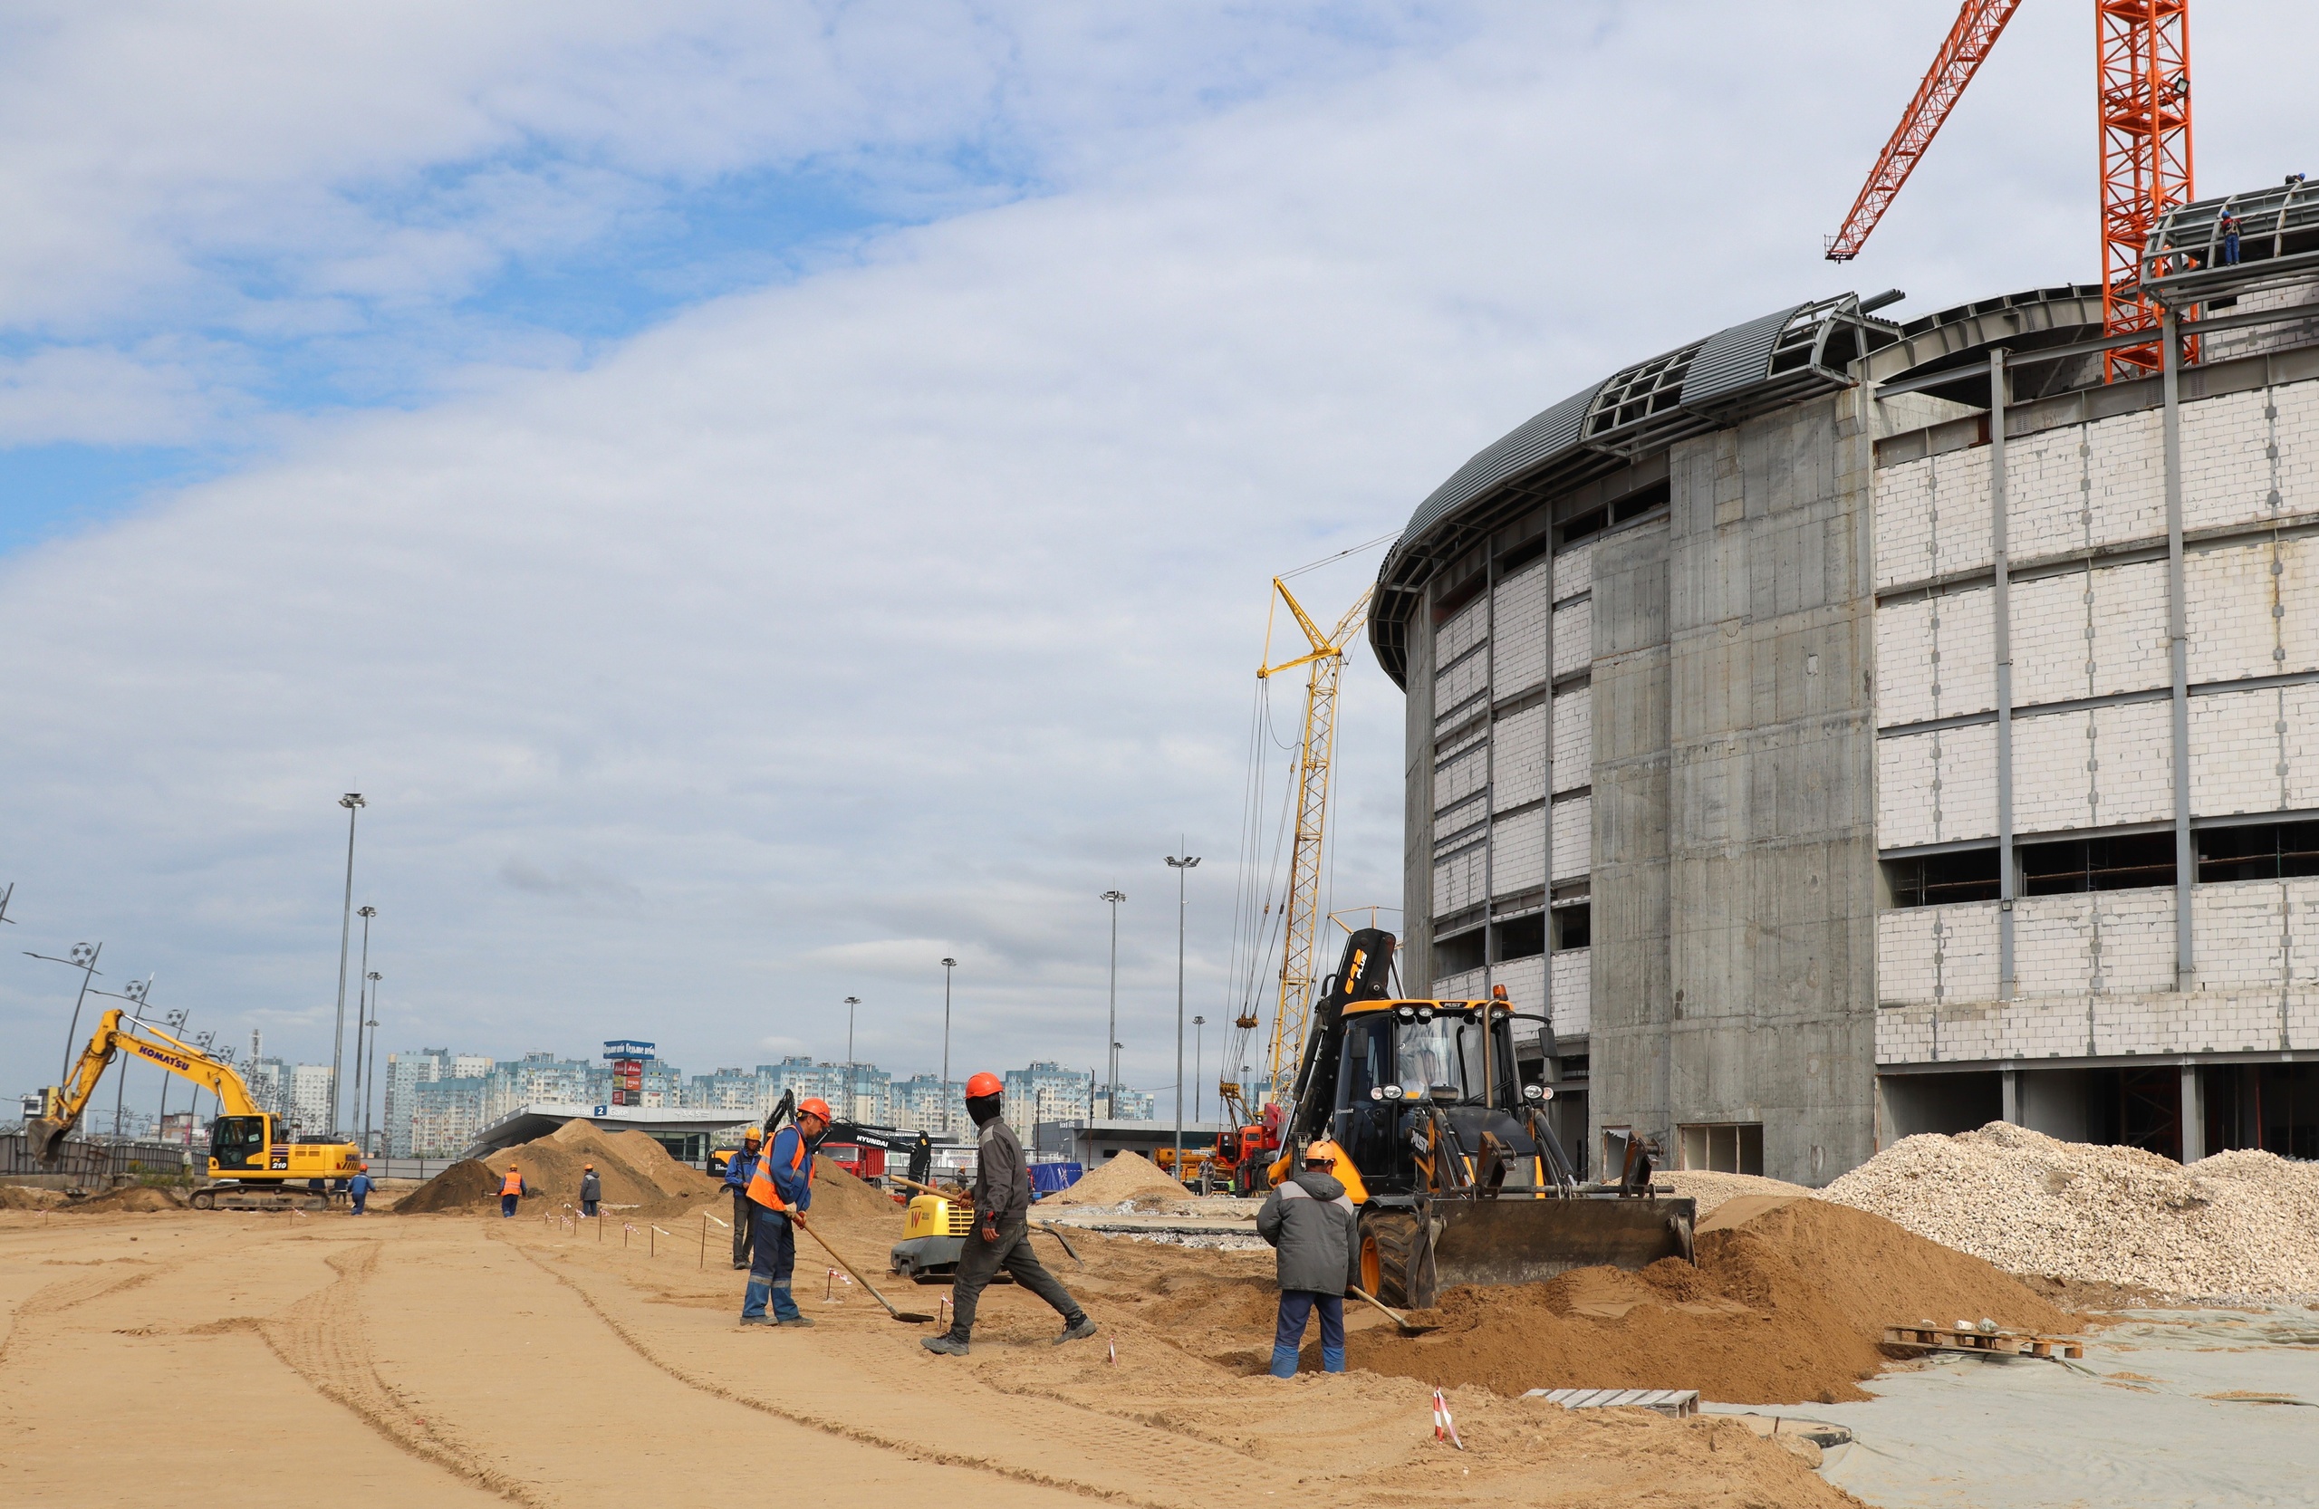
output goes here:
[{"label": "tall yellow lattice crane standing left of the round building", "polygon": [[[1275,612],[1266,617],[1264,626],[1264,661],[1273,654],[1273,624],[1278,621],[1278,605],[1285,603],[1289,617],[1296,619],[1296,628],[1303,630],[1306,654],[1278,665],[1264,663],[1257,668],[1257,679],[1268,681],[1278,675],[1306,665],[1306,716],[1303,716],[1303,739],[1296,756],[1296,786],[1289,800],[1296,804],[1296,839],[1289,851],[1289,885],[1282,899],[1282,932],[1280,932],[1280,997],[1273,1008],[1273,1041],[1266,1062],[1271,1089],[1266,1092],[1266,1108],[1282,1101],[1282,1085],[1294,1078],[1296,1059],[1303,1052],[1306,1022],[1313,1013],[1313,946],[1315,932],[1320,930],[1320,890],[1322,890],[1322,846],[1329,828],[1329,774],[1331,760],[1336,756],[1336,695],[1338,681],[1345,675],[1345,644],[1352,642],[1354,630],[1361,624],[1361,612],[1368,607],[1368,591],[1354,598],[1345,617],[1336,621],[1336,628],[1322,633],[1320,624],[1303,610],[1296,593],[1289,591],[1287,582],[1273,577]],[[1234,1018],[1234,1027],[1252,1031],[1257,1027],[1255,1001],[1241,1008]],[[1229,1059],[1229,1055],[1227,1055]],[[1243,1129],[1238,1136],[1227,1131],[1231,1140],[1248,1143],[1271,1143],[1271,1136],[1257,1138],[1255,1127],[1250,1127],[1248,1101],[1238,1082],[1224,1080],[1217,1085],[1224,1108],[1234,1120],[1234,1129]],[[1262,1115],[1262,1113],[1259,1113]],[[1278,1136],[1278,1117],[1266,1117],[1264,1127]],[[1222,1138],[1220,1138],[1222,1140]],[[1234,1147],[1238,1157],[1231,1164],[1257,1166],[1259,1159],[1248,1157],[1259,1147],[1248,1145]],[[1220,1150],[1222,1152],[1222,1150]]]}]

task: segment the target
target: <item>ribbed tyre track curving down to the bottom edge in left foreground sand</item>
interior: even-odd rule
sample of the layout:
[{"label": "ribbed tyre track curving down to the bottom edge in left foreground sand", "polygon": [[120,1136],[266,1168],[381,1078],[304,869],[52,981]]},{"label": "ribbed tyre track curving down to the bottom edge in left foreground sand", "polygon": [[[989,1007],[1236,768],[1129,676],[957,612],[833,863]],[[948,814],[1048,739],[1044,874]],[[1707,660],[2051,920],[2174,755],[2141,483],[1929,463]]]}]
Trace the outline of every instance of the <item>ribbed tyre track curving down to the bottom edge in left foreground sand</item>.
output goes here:
[{"label": "ribbed tyre track curving down to the bottom edge in left foreground sand", "polygon": [[371,1342],[362,1328],[359,1293],[378,1273],[380,1242],[362,1242],[352,1252],[334,1252],[325,1261],[339,1277],[315,1289],[297,1305],[260,1321],[230,1321],[250,1326],[264,1337],[276,1358],[306,1384],[350,1412],[376,1430],[387,1444],[410,1456],[461,1477],[480,1488],[489,1488],[508,1502],[526,1509],[550,1509],[526,1484],[487,1467],[478,1453],[457,1439],[448,1428],[429,1423],[371,1361]]}]

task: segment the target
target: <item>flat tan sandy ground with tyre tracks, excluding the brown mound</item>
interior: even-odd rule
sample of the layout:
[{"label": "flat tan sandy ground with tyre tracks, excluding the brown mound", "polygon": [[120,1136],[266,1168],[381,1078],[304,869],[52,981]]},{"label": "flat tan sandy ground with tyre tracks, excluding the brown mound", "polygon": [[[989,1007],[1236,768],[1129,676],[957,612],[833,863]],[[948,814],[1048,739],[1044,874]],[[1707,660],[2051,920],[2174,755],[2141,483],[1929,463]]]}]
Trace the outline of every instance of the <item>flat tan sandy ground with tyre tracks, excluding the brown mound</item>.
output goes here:
[{"label": "flat tan sandy ground with tyre tracks, excluding the brown mound", "polygon": [[[872,1282],[897,1229],[830,1215]],[[830,1263],[809,1242],[798,1286],[819,1326],[772,1331],[735,1324],[721,1231],[707,1268],[693,1229],[652,1256],[621,1235],[536,1212],[5,1212],[0,1375],[19,1386],[0,1497],[610,1509],[809,1484],[828,1504],[969,1509],[1858,1502],[1735,1421],[1454,1388],[1459,1453],[1433,1442],[1422,1382],[1259,1377],[1268,1335],[1204,1314],[1220,1277],[1262,1291],[1257,1254],[1088,1235],[1078,1270],[1041,1240],[1104,1335],[1051,1347],[1053,1312],[993,1289],[974,1354],[937,1358],[918,1347],[930,1328],[858,1289],[823,1300]],[[104,1426],[153,1407],[181,1421],[167,1449]]]}]

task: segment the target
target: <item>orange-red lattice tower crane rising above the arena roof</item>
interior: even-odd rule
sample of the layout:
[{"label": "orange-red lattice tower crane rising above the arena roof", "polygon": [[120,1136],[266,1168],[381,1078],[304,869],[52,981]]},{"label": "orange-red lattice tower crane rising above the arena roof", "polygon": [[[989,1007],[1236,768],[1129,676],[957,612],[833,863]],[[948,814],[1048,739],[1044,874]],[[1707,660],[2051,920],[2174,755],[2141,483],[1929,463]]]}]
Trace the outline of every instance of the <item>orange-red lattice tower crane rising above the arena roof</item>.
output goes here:
[{"label": "orange-red lattice tower crane rising above the arena roof", "polygon": [[[1892,139],[1860,185],[1830,262],[1851,262],[1892,195],[1932,146],[1964,86],[1990,56],[2020,0],[1964,0],[1932,70],[1902,111]],[[2140,292],[2140,253],[2175,204],[2194,197],[2189,130],[2189,0],[2094,0],[2094,86],[2101,132],[2101,331],[2154,331],[2157,306]],[[2106,355],[2108,378],[2157,371],[2159,348]]]}]

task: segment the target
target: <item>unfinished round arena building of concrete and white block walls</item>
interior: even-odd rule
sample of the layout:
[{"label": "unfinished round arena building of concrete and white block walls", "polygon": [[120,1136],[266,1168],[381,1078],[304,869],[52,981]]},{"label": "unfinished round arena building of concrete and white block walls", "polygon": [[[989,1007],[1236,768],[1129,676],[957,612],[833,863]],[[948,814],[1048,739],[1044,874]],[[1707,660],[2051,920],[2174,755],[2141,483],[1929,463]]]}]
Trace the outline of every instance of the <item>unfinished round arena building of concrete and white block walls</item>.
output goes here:
[{"label": "unfinished round arena building of concrete and white block walls", "polygon": [[1387,554],[1403,976],[1544,1006],[1595,1166],[2319,1157],[2319,190],[2233,197],[2238,267],[2219,204],[2161,227],[2173,401],[2103,382],[2099,287],[1846,294],[1572,394]]}]

